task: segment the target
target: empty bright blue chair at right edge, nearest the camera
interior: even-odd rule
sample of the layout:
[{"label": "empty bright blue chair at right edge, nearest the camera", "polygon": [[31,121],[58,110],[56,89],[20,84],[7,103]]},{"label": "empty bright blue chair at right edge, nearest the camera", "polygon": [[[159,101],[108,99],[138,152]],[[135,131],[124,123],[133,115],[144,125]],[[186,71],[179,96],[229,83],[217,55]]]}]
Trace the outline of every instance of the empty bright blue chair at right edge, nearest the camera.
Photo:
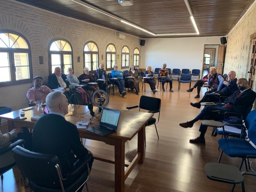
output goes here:
[{"label": "empty bright blue chair at right edge, nearest the camera", "polygon": [[248,171],[246,159],[256,158],[256,148],[252,146],[252,144],[256,144],[256,122],[252,123],[248,128],[248,139],[250,142],[240,138],[219,139],[218,144],[222,150],[218,162],[220,162],[222,154],[225,152],[230,157],[242,158],[239,170],[241,170],[243,163],[245,163],[246,171]]}]

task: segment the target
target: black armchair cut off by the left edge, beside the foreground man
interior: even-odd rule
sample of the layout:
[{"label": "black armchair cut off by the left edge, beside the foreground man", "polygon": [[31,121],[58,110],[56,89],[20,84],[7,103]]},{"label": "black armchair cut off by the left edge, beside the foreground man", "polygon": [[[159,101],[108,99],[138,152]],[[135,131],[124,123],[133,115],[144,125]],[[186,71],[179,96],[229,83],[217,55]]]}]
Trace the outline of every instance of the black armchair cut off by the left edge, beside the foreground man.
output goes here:
[{"label": "black armchair cut off by the left edge, beside the foreground man", "polygon": [[[17,146],[17,145],[22,145],[23,143],[24,143],[25,141],[23,140],[23,139],[20,139],[20,140],[18,140],[18,141],[15,141],[14,143],[11,143],[11,144],[9,144],[9,145],[6,145],[6,146],[4,146],[4,147],[2,147],[2,148],[0,148],[0,161],[1,161],[1,158],[6,158],[6,154],[7,153],[10,153],[10,155],[12,155],[11,154],[11,152],[12,152],[12,148],[14,148],[15,146]],[[10,170],[10,169],[12,169],[14,166],[16,166],[16,163],[14,162],[14,160],[12,159],[4,159],[5,161],[10,161],[10,163],[8,164],[8,165],[6,165],[5,167],[2,167],[2,168],[0,168],[0,175],[1,175],[1,180],[3,180],[4,179],[4,176],[3,176],[3,174],[5,173],[5,172],[7,172],[8,170]]]}]

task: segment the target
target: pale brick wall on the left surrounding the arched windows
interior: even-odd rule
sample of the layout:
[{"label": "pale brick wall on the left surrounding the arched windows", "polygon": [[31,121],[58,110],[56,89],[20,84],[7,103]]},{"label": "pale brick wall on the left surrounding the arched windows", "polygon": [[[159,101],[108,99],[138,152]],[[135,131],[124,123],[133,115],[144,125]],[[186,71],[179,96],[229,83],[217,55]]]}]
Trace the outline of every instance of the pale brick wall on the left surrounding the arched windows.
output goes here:
[{"label": "pale brick wall on the left surrounding the arched windows", "polygon": [[[33,76],[40,75],[44,84],[48,83],[48,46],[55,38],[68,40],[73,49],[74,71],[83,73],[83,48],[86,42],[94,41],[99,49],[99,63],[106,63],[106,47],[113,43],[116,46],[117,65],[121,68],[121,49],[124,45],[130,49],[130,65],[133,62],[134,48],[141,50],[140,38],[126,34],[124,40],[115,38],[115,31],[68,18],[22,4],[16,1],[0,0],[0,30],[13,30],[22,34],[31,46]],[[39,56],[44,57],[44,64],[39,64]],[[80,56],[81,61],[77,62]],[[66,71],[64,71],[66,73]],[[13,110],[28,106],[26,91],[30,84],[0,87],[0,106]]]}]

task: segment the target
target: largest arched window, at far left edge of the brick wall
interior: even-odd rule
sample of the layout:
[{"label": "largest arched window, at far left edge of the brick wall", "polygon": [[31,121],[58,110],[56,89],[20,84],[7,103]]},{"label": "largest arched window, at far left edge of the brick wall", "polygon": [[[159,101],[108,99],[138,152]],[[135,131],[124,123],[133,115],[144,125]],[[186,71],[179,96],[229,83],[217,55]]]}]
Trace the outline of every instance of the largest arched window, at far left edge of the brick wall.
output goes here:
[{"label": "largest arched window, at far left edge of the brick wall", "polygon": [[17,32],[0,31],[0,87],[31,83],[31,48]]}]

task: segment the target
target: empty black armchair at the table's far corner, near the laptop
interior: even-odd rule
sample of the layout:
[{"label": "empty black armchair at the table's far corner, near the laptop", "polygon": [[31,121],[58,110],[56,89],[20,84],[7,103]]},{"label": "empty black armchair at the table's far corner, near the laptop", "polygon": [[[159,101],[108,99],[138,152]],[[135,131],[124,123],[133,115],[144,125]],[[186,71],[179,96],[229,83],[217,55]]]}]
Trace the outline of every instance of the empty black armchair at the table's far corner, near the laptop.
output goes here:
[{"label": "empty black armchair at the table's far corner, near the laptop", "polygon": [[[145,109],[145,110],[148,110],[148,113],[158,113],[158,121],[157,122],[156,122],[156,119],[154,117],[151,117],[150,120],[148,121],[148,123],[146,124],[146,126],[154,124],[155,128],[156,128],[156,123],[159,122],[159,118],[160,118],[161,99],[142,95],[140,97],[140,104],[139,105],[126,107],[126,109],[129,110],[129,109],[134,109],[134,108],[137,108],[137,107],[139,107],[139,111],[140,111],[140,109]],[[159,139],[157,129],[156,129],[156,134],[157,134],[157,137]],[[145,146],[146,146],[146,137],[145,137]]]}]

